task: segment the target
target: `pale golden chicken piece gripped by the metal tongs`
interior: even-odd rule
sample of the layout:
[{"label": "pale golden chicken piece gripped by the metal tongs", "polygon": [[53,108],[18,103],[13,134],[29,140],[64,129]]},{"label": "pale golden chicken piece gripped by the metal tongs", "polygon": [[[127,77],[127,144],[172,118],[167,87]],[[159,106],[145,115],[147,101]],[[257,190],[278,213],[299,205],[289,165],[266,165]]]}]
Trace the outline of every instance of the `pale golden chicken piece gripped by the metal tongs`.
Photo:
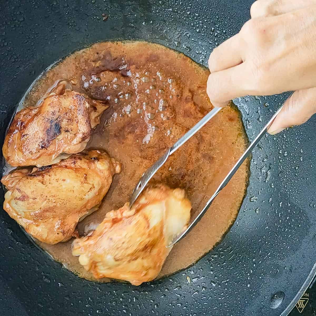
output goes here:
[{"label": "pale golden chicken piece gripped by the metal tongs", "polygon": [[166,245],[186,228],[190,210],[184,190],[149,188],[131,210],[125,203],[107,213],[90,236],[74,240],[72,254],[97,279],[110,277],[133,285],[151,281],[171,250]]}]

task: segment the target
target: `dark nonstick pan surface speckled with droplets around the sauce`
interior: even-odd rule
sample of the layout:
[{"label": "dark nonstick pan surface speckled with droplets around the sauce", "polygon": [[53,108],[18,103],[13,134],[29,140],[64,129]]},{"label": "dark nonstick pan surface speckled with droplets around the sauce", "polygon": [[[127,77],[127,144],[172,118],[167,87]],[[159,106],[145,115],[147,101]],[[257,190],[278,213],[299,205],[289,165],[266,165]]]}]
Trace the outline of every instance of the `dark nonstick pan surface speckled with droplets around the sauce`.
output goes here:
[{"label": "dark nonstick pan surface speckled with droplets around the sauce", "polygon": [[[143,39],[206,65],[212,49],[250,18],[251,3],[2,1],[1,142],[21,96],[59,58],[96,41]],[[109,15],[107,21],[102,13]],[[285,95],[235,100],[250,140],[284,100]],[[312,119],[264,137],[253,153],[240,214],[222,243],[194,266],[139,287],[78,278],[0,212],[0,311],[10,316],[286,315],[315,272],[315,128]]]}]

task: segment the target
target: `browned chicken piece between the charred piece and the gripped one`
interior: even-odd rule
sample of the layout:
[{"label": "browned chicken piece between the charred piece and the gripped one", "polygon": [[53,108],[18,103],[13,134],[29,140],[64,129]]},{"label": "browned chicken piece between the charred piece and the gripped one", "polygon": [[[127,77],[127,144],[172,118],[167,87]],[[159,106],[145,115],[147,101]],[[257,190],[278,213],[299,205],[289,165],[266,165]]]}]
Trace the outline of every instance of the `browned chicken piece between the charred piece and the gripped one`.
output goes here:
[{"label": "browned chicken piece between the charred piece and the gripped one", "polygon": [[121,164],[106,152],[73,154],[59,163],[16,170],[1,179],[9,191],[4,210],[27,233],[56,244],[69,240],[78,221],[98,209]]}]

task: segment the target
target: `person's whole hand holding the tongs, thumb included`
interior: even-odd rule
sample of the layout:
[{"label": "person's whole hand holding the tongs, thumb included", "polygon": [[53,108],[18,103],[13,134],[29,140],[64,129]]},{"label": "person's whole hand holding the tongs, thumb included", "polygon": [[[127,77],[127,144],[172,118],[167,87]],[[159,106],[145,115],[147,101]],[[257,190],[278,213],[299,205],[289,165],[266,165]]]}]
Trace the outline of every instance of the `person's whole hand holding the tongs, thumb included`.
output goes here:
[{"label": "person's whole hand holding the tongs, thumb included", "polygon": [[258,0],[251,16],[211,53],[207,92],[224,106],[247,94],[295,90],[268,130],[276,134],[316,112],[316,0]]}]

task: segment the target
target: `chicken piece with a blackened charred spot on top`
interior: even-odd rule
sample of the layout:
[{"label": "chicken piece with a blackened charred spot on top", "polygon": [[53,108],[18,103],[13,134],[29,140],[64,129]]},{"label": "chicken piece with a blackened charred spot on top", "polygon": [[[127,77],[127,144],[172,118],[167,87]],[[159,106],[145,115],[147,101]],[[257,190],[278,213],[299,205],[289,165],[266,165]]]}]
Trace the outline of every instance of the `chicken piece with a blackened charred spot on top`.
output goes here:
[{"label": "chicken piece with a blackened charred spot on top", "polygon": [[107,108],[102,101],[65,89],[62,82],[40,106],[16,113],[4,140],[3,156],[14,167],[41,167],[78,153],[85,149]]}]

